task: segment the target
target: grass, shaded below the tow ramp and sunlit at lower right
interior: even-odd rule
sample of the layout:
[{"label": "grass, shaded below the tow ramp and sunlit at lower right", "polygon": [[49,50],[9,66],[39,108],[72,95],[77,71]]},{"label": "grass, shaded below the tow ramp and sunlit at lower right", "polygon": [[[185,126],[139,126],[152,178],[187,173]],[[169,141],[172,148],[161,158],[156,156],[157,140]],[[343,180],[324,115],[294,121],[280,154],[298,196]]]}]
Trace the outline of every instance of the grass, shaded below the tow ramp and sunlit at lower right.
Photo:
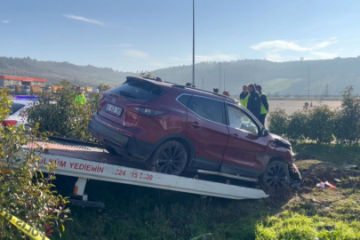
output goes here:
[{"label": "grass, shaded below the tow ramp and sunlit at lower right", "polygon": [[[295,148],[336,164],[350,163],[347,157],[357,159],[359,152],[306,144]],[[307,169],[319,162],[299,165]],[[321,178],[321,171],[332,170],[314,176]],[[74,220],[66,224],[62,239],[360,239],[360,172],[349,174],[355,188],[344,180],[336,189],[319,189],[309,178],[301,189],[242,201],[90,181],[87,192],[106,208],[72,206]]]}]

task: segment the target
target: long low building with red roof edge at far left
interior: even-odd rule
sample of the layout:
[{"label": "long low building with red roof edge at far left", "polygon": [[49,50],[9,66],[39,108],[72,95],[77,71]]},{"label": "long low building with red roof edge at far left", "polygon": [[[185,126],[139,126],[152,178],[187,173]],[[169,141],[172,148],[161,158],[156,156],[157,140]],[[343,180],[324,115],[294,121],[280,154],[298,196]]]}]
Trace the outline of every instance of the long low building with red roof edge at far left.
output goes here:
[{"label": "long low building with red roof edge at far left", "polygon": [[0,87],[9,85],[21,86],[45,86],[46,79],[27,76],[6,76],[0,75]]}]

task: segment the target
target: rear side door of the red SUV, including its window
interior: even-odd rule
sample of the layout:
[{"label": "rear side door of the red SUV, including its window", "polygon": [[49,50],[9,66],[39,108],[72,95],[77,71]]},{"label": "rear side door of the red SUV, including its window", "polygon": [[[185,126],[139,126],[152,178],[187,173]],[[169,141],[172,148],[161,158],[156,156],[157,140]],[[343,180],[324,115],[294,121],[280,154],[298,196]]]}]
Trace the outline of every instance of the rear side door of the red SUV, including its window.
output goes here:
[{"label": "rear side door of the red SUV, including its window", "polygon": [[193,95],[187,116],[187,136],[196,152],[194,167],[219,171],[228,141],[224,102]]}]

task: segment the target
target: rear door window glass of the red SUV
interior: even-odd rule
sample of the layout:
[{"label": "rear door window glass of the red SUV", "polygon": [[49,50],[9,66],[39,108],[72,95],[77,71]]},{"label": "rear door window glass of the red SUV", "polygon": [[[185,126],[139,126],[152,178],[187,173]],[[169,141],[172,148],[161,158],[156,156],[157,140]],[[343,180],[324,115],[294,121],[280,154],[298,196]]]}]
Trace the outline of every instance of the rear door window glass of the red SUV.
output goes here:
[{"label": "rear door window glass of the red SUV", "polygon": [[188,108],[207,120],[222,124],[223,108],[220,100],[212,100],[193,96],[190,100]]}]

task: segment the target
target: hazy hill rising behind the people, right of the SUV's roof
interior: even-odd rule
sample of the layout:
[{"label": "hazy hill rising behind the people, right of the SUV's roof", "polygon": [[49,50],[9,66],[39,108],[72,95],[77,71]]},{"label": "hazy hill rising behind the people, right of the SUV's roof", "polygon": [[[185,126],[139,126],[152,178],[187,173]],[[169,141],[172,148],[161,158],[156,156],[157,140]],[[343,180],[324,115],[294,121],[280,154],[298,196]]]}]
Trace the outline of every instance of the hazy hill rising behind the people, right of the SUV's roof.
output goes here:
[{"label": "hazy hill rising behind the people, right of the SUV's roof", "polygon": [[[355,85],[360,93],[360,58],[336,58],[333,60],[303,60],[273,62],[268,60],[236,60],[221,62],[221,91],[225,88],[231,94],[241,92],[244,84],[261,84],[263,92],[279,94],[308,95],[308,65],[310,65],[310,95],[339,95],[345,86]],[[191,66],[158,69],[153,76],[175,83],[191,82]],[[219,88],[219,62],[196,64],[196,87],[212,91]]]}]

